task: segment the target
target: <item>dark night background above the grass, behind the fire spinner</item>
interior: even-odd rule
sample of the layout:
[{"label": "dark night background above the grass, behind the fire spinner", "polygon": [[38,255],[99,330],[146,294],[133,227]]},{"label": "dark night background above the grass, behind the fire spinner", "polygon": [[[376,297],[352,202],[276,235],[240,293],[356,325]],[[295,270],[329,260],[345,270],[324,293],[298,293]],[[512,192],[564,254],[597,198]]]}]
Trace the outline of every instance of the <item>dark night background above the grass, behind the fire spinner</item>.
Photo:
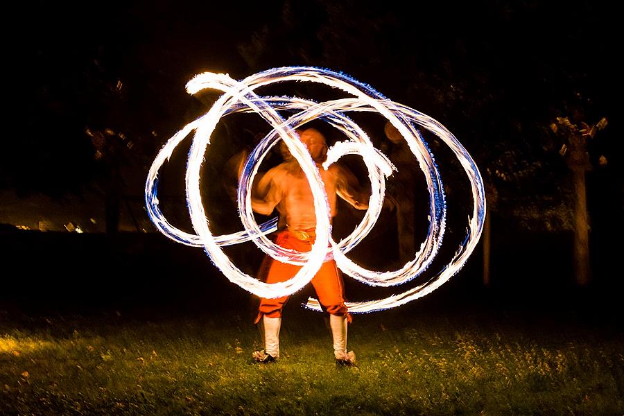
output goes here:
[{"label": "dark night background above the grass, behind the fire spinner", "polygon": [[[144,181],[168,137],[217,96],[186,94],[192,76],[214,71],[241,79],[271,67],[311,65],[343,71],[437,119],[480,168],[492,215],[491,285],[482,282],[479,246],[458,275],[417,302],[618,313],[621,36],[610,3],[35,2],[18,6],[10,20],[10,110],[0,153],[3,309],[195,313],[239,304],[252,311],[251,296],[229,284],[202,250],[155,232],[143,208]],[[324,94],[298,84],[283,91]],[[608,120],[587,144],[592,276],[584,288],[573,281],[571,173],[559,153],[564,142],[549,128],[557,116],[590,125]],[[358,121],[380,148],[392,150],[383,120]],[[266,129],[251,117],[224,120],[207,177]],[[440,255],[450,256],[465,233],[471,200],[456,163],[440,144],[430,146],[449,199],[447,251]],[[177,151],[161,182],[163,209],[182,227],[190,227],[186,151]],[[352,168],[358,170],[357,161]],[[236,207],[217,181],[207,179],[205,187],[219,201],[209,209],[220,220],[212,223],[219,232],[234,231]],[[423,189],[416,192],[426,197]],[[111,196],[121,213],[119,231],[105,233]],[[416,211],[426,216],[423,207]],[[338,234],[358,218],[340,212]],[[64,231],[71,216],[85,234]],[[397,261],[397,229],[392,212],[381,219],[353,256],[383,268]],[[33,224],[42,220],[53,230],[38,231]],[[419,232],[424,221],[417,218]],[[16,227],[26,223],[29,230]],[[234,248],[232,255],[253,272],[257,251]],[[346,284],[352,300],[392,293]]]}]

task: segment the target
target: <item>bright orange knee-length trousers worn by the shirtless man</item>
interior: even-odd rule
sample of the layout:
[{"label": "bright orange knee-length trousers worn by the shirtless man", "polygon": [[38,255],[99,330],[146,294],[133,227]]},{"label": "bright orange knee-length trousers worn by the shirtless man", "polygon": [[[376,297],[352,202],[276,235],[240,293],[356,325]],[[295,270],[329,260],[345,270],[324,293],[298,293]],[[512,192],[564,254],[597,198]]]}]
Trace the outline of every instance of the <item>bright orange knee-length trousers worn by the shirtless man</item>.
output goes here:
[{"label": "bright orange knee-length trousers worn by the shirtless man", "polygon": [[[284,229],[277,232],[275,236],[275,243],[277,245],[300,252],[310,251],[314,240],[314,229],[306,229],[302,232]],[[286,281],[291,279],[300,268],[301,266],[281,263],[281,261],[267,256],[260,267],[259,278],[266,281],[266,283]],[[332,315],[346,316],[347,320],[351,322],[351,315],[347,313],[347,306],[345,306],[343,277],[336,267],[336,261],[332,259],[323,263],[311,281],[323,311],[331,313]],[[262,315],[267,315],[269,318],[281,317],[281,309],[284,308],[284,304],[286,304],[287,301],[288,296],[277,297],[275,299],[261,297],[258,316],[254,323],[258,323]]]}]

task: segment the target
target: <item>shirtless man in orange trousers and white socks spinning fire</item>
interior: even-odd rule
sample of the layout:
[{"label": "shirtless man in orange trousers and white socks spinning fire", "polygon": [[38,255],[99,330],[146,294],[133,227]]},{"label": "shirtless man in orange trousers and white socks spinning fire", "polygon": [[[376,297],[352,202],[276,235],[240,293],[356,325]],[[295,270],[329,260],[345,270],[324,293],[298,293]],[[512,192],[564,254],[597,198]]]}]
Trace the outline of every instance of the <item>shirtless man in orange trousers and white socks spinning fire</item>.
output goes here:
[{"label": "shirtless man in orange trousers and white socks spinning fire", "polygon": [[[367,209],[370,195],[361,189],[353,173],[338,164],[332,164],[327,170],[322,168],[322,162],[327,155],[323,135],[313,128],[297,132],[319,169],[331,217],[336,215],[336,196],[340,196],[356,209]],[[313,201],[306,175],[299,163],[291,157],[270,169],[254,184],[252,209],[263,215],[270,215],[273,209],[277,209],[279,220],[275,243],[284,248],[306,252],[311,250],[315,241],[316,217]],[[275,283],[291,279],[299,269],[300,266],[266,257],[259,274],[267,283]],[[336,261],[332,259],[323,263],[311,281],[322,309],[329,313],[336,363],[354,365],[353,352],[347,353],[347,322],[351,322],[351,316],[345,306],[343,279],[336,268]],[[287,300],[288,296],[277,299],[261,298],[255,322],[262,321],[265,349],[254,352],[256,361],[270,363],[279,358],[281,310]]]}]

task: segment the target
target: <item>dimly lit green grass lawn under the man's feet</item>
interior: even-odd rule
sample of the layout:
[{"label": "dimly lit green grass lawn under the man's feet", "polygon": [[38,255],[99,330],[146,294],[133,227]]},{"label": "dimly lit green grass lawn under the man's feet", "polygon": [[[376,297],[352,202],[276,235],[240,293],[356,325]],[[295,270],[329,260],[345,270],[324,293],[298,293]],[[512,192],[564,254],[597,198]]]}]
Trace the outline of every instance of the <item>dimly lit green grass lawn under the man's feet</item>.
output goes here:
[{"label": "dimly lit green grass lawn under the man's feet", "polygon": [[321,315],[291,309],[255,365],[245,313],[0,319],[0,414],[622,415],[624,336],[521,313],[356,315],[336,367]]}]

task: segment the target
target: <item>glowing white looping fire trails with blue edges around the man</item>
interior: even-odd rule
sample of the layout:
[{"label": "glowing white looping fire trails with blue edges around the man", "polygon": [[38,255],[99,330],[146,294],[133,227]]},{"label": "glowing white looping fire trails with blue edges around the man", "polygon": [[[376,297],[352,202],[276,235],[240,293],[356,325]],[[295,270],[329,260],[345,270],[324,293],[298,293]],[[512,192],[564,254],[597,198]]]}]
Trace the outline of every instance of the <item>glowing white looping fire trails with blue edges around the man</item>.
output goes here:
[{"label": "glowing white looping fire trails with blue edges around the man", "polygon": [[[304,81],[320,83],[329,87],[341,89],[349,94],[350,98],[342,98],[324,103],[302,98],[290,97],[261,97],[255,90],[272,83],[286,81]],[[191,246],[203,246],[211,261],[222,270],[230,281],[238,284],[245,290],[261,297],[280,297],[290,295],[307,284],[320,268],[323,261],[336,259],[340,270],[345,274],[372,286],[395,286],[413,279],[426,270],[437,254],[446,222],[446,206],[440,173],[435,166],[433,156],[419,133],[419,128],[433,132],[442,139],[458,158],[471,184],[474,209],[469,219],[466,239],[458,248],[453,259],[440,272],[428,279],[424,284],[412,288],[399,295],[393,295],[381,300],[349,303],[349,312],[363,313],[388,309],[399,306],[431,293],[450,279],[465,264],[467,258],[474,251],[476,243],[483,229],[485,218],[485,193],[483,182],[470,155],[459,141],[443,125],[416,110],[387,100],[371,87],[359,83],[342,73],[312,68],[312,67],[284,67],[270,69],[254,74],[241,81],[233,80],[225,74],[202,73],[187,84],[187,92],[196,94],[203,89],[218,89],[224,94],[211,107],[209,112],[187,124],[167,141],[160,150],[148,173],[146,182],[146,205],[148,214],[157,229],[168,238]],[[366,270],[349,260],[345,253],[352,250],[372,229],[381,213],[385,196],[385,178],[395,169],[387,157],[374,148],[366,133],[345,112],[377,112],[382,114],[392,125],[399,130],[425,174],[429,193],[429,229],[420,250],[415,253],[412,261],[404,267],[390,272]],[[200,167],[203,156],[210,144],[210,137],[221,117],[236,112],[254,112],[259,114],[271,126],[272,130],[250,153],[239,183],[239,216],[244,230],[234,234],[213,236],[205,215],[204,205],[200,198]],[[293,114],[284,119],[279,112]],[[334,128],[342,132],[347,141],[332,146],[327,153],[327,162],[323,168],[338,161],[344,155],[360,155],[368,171],[371,183],[371,198],[363,220],[347,238],[336,243],[331,239],[329,223],[329,207],[327,196],[324,193],[322,180],[305,146],[298,140],[295,129],[314,120],[323,119]],[[157,200],[157,175],[162,165],[171,157],[175,147],[182,139],[195,131],[187,168],[187,203],[191,214],[193,229],[197,234],[182,232],[169,224]],[[315,216],[317,218],[317,239],[310,252],[296,252],[281,248],[272,243],[266,234],[276,229],[277,219],[258,225],[254,219],[251,207],[251,189],[259,166],[268,152],[279,140],[284,140],[288,150],[302,167],[310,182],[314,198]],[[288,281],[266,284],[243,273],[229,261],[222,245],[253,241],[263,252],[278,261],[301,265],[297,274]],[[329,247],[329,248],[328,248]],[[320,311],[318,301],[310,299],[306,304],[310,309]]]}]

